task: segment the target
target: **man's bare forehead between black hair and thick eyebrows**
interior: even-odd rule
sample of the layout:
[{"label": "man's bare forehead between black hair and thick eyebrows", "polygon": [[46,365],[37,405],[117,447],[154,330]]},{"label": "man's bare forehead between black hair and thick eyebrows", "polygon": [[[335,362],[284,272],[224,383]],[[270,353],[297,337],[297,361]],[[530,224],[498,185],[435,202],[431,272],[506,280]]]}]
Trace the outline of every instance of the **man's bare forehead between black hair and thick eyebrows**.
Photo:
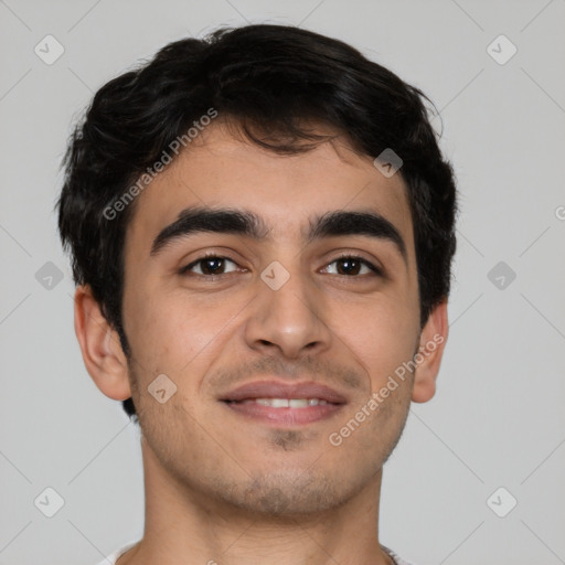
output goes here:
[{"label": "man's bare forehead between black hair and thick eyebrows", "polygon": [[[328,130],[321,130],[327,134]],[[138,196],[127,245],[153,238],[191,206],[238,209],[260,216],[270,238],[303,238],[309,218],[329,211],[373,211],[388,220],[412,255],[406,186],[385,178],[343,138],[278,154],[214,124],[202,131]]]}]

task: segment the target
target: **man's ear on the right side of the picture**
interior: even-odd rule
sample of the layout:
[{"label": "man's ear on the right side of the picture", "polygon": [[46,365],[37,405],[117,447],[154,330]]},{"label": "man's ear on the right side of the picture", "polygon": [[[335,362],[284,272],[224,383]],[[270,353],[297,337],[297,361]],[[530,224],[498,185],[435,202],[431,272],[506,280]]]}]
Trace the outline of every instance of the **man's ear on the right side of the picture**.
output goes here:
[{"label": "man's ear on the right side of the picture", "polygon": [[448,332],[447,299],[445,299],[431,310],[426,324],[422,329],[415,360],[417,364],[414,388],[412,391],[414,402],[427,402],[436,393],[436,379]]}]

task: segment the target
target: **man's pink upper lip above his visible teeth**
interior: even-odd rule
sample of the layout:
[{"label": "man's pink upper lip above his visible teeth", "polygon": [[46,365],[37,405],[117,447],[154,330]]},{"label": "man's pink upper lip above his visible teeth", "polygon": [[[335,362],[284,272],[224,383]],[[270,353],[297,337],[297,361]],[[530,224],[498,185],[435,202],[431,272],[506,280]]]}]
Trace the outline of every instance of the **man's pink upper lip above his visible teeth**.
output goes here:
[{"label": "man's pink upper lip above his visible teeth", "polygon": [[225,394],[222,401],[245,401],[253,398],[319,398],[334,404],[345,404],[347,398],[321,383],[281,383],[258,381],[247,383]]}]

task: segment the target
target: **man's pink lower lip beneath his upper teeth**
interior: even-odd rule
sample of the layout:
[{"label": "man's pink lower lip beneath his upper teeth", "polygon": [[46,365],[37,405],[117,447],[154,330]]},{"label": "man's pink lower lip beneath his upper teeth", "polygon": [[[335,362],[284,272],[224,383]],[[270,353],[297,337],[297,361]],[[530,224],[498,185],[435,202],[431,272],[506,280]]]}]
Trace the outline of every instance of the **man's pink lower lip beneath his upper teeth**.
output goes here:
[{"label": "man's pink lower lip beneath his upper teeth", "polygon": [[343,408],[343,404],[323,404],[306,408],[271,408],[256,403],[224,402],[234,412],[265,423],[291,426],[311,424],[333,416]]}]

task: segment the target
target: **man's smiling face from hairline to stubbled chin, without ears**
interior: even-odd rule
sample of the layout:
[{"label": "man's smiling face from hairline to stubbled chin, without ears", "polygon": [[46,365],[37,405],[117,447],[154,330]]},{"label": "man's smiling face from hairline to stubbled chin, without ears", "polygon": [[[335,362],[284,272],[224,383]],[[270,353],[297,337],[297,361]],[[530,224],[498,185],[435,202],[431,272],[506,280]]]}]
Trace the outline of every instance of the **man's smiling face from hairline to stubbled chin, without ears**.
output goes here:
[{"label": "man's smiling face from hairline to stubbled chin, without ears", "polygon": [[[407,372],[370,403],[420,344],[404,182],[339,139],[288,157],[214,125],[189,149],[138,198],[126,236],[147,447],[188,495],[255,514],[340,505],[379,477],[413,392]],[[179,222],[195,207],[242,215]]]}]

